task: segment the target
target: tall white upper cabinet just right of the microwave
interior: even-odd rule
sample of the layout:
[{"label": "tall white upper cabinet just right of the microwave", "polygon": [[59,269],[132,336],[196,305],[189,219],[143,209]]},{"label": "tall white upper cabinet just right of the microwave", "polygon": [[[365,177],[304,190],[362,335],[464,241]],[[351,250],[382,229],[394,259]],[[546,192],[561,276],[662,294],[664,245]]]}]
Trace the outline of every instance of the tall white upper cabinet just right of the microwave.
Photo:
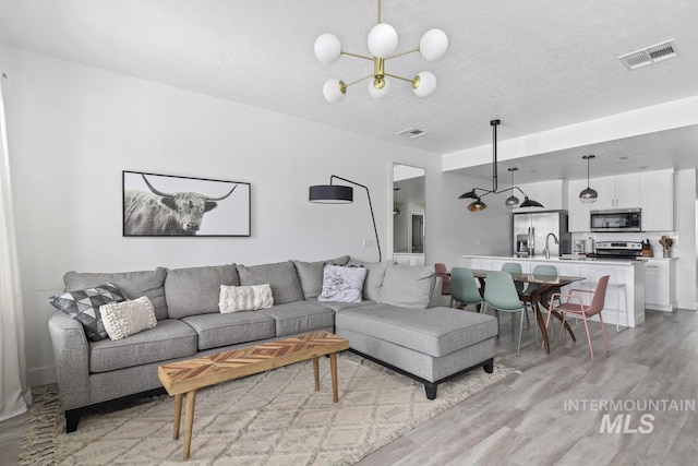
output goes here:
[{"label": "tall white upper cabinet just right of the microwave", "polygon": [[674,170],[641,174],[642,231],[674,229]]}]

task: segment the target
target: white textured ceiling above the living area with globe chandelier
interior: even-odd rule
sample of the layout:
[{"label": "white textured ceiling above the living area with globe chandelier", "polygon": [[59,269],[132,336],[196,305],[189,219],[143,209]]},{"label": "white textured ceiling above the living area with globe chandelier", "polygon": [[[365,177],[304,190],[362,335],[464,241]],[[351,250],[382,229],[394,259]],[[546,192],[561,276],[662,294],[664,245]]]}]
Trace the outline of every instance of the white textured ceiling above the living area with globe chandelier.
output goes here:
[{"label": "white textured ceiling above the living area with globe chandelier", "polygon": [[[698,95],[695,0],[384,0],[383,21],[396,27],[400,51],[416,47],[431,27],[448,34],[449,50],[437,61],[412,53],[386,64],[404,76],[432,71],[436,92],[418,98],[408,83],[394,81],[390,95],[373,100],[362,82],[341,103],[328,104],[325,80],[353,81],[372,64],[352,57],[322,64],[313,55],[315,38],[332,32],[345,50],[369,55],[365,38],[375,20],[375,0],[0,0],[0,43],[434,156],[489,143],[492,118],[506,123],[503,140]],[[679,51],[675,59],[637,71],[616,59],[670,38]],[[428,134],[395,135],[408,128]],[[647,144],[665,144],[671,133],[635,150],[655,156]],[[694,166],[696,134],[682,140]],[[684,164],[686,155],[677,158]],[[541,160],[537,169],[528,157],[529,171],[554,176],[541,175],[551,159]]]}]

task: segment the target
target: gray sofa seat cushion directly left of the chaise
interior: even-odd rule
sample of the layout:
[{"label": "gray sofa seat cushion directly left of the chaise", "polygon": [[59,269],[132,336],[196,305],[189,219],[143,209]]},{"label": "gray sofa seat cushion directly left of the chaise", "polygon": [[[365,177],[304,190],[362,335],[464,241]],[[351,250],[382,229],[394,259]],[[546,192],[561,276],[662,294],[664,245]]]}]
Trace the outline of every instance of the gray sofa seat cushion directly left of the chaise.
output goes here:
[{"label": "gray sofa seat cushion directly left of the chaise", "polygon": [[274,318],[276,336],[333,328],[335,311],[316,301],[298,301],[255,311]]}]

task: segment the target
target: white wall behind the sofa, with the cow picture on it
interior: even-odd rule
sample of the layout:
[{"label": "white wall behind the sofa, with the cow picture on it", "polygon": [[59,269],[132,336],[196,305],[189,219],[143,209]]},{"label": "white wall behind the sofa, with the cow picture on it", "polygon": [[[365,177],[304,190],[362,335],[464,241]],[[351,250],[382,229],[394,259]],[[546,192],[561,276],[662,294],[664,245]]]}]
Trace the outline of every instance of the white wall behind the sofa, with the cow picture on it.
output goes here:
[{"label": "white wall behind the sofa, with the cow picture on it", "polygon": [[[482,224],[456,200],[469,187],[435,154],[4,46],[0,70],[33,385],[55,380],[47,297],[67,271],[377,260],[361,246],[374,237],[363,190],[353,204],[308,202],[308,187],[333,174],[371,189],[384,259],[395,162],[426,169],[428,263],[476,252],[467,238]],[[123,238],[124,169],[250,182],[252,236]]]}]

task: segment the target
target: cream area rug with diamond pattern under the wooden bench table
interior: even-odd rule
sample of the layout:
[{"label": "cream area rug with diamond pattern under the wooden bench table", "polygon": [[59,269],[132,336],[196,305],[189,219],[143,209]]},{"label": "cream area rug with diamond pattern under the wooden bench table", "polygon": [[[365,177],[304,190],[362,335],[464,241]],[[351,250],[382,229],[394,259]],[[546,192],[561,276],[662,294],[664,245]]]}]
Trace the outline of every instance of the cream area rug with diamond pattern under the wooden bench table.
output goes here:
[{"label": "cream area rug with diamond pattern under the wooden bench table", "polygon": [[[476,369],[438,385],[436,399],[429,401],[412,379],[349,353],[337,359],[337,404],[327,358],[321,358],[320,392],[312,361],[200,390],[188,464],[350,465],[517,372],[498,365],[492,374]],[[23,465],[182,463],[183,426],[173,440],[173,398],[167,395],[84,415],[70,434],[56,386],[38,391],[36,399]]]}]

